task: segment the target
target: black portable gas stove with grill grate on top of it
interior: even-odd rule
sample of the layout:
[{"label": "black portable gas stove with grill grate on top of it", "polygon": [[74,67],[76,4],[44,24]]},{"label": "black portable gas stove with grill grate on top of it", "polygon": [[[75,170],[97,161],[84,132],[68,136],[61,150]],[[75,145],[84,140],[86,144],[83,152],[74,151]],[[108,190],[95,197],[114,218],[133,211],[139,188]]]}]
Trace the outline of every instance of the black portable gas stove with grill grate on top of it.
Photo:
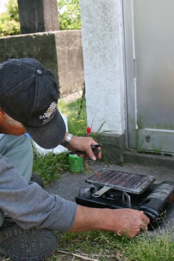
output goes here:
[{"label": "black portable gas stove with grill grate on top of it", "polygon": [[132,208],[143,211],[153,230],[166,218],[174,201],[174,182],[155,184],[155,177],[103,168],[85,180],[76,202],[86,207]]}]

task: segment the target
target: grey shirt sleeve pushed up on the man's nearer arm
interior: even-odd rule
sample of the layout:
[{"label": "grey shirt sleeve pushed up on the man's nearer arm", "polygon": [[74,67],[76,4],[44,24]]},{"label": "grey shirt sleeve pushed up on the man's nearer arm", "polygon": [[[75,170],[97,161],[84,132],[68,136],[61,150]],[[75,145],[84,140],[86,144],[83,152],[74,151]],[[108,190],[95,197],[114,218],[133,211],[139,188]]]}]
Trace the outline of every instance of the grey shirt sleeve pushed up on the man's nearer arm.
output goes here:
[{"label": "grey shirt sleeve pushed up on the man's nearer arm", "polygon": [[72,228],[77,204],[49,194],[35,182],[26,182],[6,157],[0,155],[0,209],[24,229]]}]

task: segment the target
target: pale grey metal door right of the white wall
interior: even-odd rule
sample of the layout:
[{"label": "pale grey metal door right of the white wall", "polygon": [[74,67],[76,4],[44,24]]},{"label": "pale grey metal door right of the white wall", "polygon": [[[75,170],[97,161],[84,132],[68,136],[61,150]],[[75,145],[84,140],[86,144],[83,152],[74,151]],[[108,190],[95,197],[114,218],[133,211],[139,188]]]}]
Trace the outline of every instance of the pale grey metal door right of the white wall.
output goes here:
[{"label": "pale grey metal door right of the white wall", "polygon": [[122,3],[128,147],[174,152],[174,1]]}]

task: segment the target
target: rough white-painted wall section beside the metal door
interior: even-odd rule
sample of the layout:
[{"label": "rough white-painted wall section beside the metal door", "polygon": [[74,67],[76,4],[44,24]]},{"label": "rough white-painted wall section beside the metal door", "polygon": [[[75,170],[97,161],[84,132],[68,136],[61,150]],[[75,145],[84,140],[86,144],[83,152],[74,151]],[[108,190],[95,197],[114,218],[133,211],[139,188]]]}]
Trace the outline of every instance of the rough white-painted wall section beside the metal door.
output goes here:
[{"label": "rough white-painted wall section beside the metal door", "polygon": [[88,125],[125,132],[121,0],[80,0]]}]

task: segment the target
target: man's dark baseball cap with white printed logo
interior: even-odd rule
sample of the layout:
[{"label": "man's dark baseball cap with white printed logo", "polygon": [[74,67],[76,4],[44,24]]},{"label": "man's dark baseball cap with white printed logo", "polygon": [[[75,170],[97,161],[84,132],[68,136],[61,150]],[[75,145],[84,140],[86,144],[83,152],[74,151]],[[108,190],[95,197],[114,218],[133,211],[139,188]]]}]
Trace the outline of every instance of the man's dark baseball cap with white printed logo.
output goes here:
[{"label": "man's dark baseball cap with white printed logo", "polygon": [[33,58],[9,59],[0,64],[0,107],[26,128],[45,149],[63,141],[66,128],[57,109],[54,74]]}]

